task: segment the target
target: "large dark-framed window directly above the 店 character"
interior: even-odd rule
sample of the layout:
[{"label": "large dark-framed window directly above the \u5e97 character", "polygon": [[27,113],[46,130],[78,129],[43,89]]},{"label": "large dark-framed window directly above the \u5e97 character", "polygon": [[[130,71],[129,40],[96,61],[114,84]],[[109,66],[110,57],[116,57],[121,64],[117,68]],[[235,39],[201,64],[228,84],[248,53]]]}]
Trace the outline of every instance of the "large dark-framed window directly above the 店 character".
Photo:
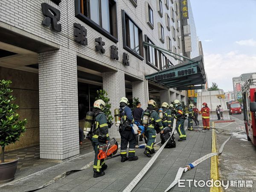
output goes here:
[{"label": "large dark-framed window directly above the \u5e97 character", "polygon": [[142,30],[122,10],[123,47],[131,54],[143,60]]}]

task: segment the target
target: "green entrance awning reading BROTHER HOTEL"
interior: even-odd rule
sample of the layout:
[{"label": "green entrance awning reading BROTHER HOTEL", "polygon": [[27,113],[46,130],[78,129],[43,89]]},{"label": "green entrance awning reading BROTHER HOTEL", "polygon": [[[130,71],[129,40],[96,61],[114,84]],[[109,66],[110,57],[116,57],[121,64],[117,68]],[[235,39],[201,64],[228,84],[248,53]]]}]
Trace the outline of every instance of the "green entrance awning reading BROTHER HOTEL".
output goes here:
[{"label": "green entrance awning reading BROTHER HOTEL", "polygon": [[192,60],[147,75],[145,79],[168,88],[184,87],[184,90],[194,89],[195,87],[188,86],[205,84],[206,75],[202,56],[198,56]]}]

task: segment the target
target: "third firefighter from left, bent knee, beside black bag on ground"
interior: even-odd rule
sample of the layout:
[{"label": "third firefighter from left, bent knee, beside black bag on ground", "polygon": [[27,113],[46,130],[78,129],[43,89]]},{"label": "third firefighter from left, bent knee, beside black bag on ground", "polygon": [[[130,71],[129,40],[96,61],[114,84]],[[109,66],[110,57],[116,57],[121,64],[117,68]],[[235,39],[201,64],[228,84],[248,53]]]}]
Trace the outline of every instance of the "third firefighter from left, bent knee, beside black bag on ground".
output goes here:
[{"label": "third firefighter from left, bent knee, beside black bag on ground", "polygon": [[[156,107],[156,102],[154,100],[148,101],[148,108],[142,113],[142,119],[143,119],[143,125],[145,127],[145,136],[148,139],[148,143],[145,147],[144,154],[147,157],[151,157],[151,154],[155,153],[154,150],[154,143],[156,139],[156,128],[158,127],[160,129],[160,132],[163,133],[163,124],[162,121],[157,113],[157,111],[154,110]],[[144,114],[149,113],[148,121],[145,123],[145,116]]]}]

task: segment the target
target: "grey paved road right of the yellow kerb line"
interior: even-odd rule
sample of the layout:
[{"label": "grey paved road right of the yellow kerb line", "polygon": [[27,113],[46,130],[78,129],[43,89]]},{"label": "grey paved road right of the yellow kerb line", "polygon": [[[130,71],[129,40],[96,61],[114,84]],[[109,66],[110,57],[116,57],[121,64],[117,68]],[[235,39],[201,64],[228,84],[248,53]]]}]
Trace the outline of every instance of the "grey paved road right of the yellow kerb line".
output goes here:
[{"label": "grey paved road right of the yellow kerb line", "polygon": [[[227,192],[256,191],[256,148],[250,141],[247,141],[246,133],[237,134],[237,127],[244,126],[243,114],[231,116],[235,122],[216,123],[216,128],[225,128],[234,131],[224,131],[232,133],[231,140],[225,145],[223,153],[219,156],[220,180],[225,182],[232,180],[236,182],[236,187],[230,186]],[[241,120],[240,120],[241,119]],[[223,131],[220,131],[223,132]],[[217,134],[217,149],[229,137],[224,134]],[[238,182],[252,180],[253,186],[238,187]]]}]

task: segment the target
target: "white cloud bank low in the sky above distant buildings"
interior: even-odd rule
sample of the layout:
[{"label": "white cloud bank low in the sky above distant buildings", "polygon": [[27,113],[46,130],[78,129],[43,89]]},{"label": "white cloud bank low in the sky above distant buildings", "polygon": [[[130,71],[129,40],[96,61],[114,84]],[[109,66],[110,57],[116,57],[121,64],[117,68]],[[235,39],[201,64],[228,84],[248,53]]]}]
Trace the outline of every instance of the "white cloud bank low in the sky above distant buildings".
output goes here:
[{"label": "white cloud bank low in the sky above distant buildings", "polygon": [[231,51],[223,54],[204,54],[208,85],[216,82],[224,91],[233,90],[232,78],[242,73],[256,73],[256,55]]}]

